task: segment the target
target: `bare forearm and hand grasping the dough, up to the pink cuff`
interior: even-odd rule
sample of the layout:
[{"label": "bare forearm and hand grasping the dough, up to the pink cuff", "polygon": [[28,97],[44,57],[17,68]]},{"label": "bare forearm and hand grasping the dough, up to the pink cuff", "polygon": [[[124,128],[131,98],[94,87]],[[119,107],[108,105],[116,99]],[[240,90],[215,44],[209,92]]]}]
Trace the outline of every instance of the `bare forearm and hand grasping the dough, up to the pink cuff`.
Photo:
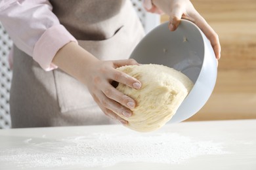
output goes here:
[{"label": "bare forearm and hand grasping the dough, up to the pink cuff", "polygon": [[139,89],[141,86],[139,80],[116,70],[117,67],[124,65],[139,65],[137,61],[134,59],[100,61],[77,43],[69,42],[57,52],[53,63],[85,84],[104,114],[121,124],[128,123],[118,115],[130,117],[133,114],[131,109],[136,105],[135,100],[116,90],[112,82],[120,82]]}]

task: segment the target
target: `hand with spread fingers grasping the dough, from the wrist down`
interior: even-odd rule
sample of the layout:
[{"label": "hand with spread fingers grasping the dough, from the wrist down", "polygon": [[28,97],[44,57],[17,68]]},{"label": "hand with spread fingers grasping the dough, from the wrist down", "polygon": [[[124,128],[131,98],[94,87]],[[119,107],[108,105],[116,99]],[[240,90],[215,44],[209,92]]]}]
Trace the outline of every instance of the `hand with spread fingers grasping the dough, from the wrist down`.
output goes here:
[{"label": "hand with spread fingers grasping the dough, from the wrist down", "polygon": [[135,89],[141,87],[141,83],[136,78],[129,76],[117,67],[124,65],[139,65],[134,59],[123,59],[114,61],[94,61],[86,68],[86,84],[89,92],[95,99],[100,109],[110,118],[118,120],[121,124],[128,124],[119,115],[130,117],[136,102],[131,97],[124,95],[112,86],[112,82],[126,84]]}]

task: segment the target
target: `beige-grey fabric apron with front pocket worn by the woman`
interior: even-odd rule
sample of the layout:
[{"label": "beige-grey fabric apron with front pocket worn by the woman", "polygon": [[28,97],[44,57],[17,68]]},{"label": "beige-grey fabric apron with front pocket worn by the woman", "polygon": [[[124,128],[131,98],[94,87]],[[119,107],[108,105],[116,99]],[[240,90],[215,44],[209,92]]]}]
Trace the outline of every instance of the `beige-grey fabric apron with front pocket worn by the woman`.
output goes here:
[{"label": "beige-grey fabric apron with front pocket worn by the woman", "polygon": [[[50,2],[60,23],[99,59],[129,58],[144,35],[129,0]],[[10,107],[12,127],[114,123],[99,109],[86,86],[60,69],[44,71],[16,46]]]}]

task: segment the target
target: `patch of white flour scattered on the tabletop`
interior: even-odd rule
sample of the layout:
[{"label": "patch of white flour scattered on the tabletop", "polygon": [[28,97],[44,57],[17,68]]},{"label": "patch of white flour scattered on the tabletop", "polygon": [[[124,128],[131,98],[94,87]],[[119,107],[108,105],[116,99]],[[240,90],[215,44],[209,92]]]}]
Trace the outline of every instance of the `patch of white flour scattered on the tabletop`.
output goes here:
[{"label": "patch of white flour scattered on the tabletop", "polygon": [[[38,139],[37,139],[38,140]],[[24,141],[23,148],[0,150],[0,164],[17,167],[106,167],[119,162],[182,163],[196,156],[226,154],[223,144],[195,141],[177,133],[94,133],[53,140]]]}]

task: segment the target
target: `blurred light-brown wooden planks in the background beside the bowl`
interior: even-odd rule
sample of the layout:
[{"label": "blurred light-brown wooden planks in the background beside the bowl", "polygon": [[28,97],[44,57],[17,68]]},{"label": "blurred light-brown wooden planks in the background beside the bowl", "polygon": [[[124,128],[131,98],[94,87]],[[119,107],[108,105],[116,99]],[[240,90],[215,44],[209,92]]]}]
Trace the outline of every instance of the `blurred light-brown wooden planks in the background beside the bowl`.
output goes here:
[{"label": "blurred light-brown wooden planks in the background beside the bowl", "polygon": [[256,1],[191,1],[218,33],[222,51],[215,90],[189,120],[256,118]]}]

